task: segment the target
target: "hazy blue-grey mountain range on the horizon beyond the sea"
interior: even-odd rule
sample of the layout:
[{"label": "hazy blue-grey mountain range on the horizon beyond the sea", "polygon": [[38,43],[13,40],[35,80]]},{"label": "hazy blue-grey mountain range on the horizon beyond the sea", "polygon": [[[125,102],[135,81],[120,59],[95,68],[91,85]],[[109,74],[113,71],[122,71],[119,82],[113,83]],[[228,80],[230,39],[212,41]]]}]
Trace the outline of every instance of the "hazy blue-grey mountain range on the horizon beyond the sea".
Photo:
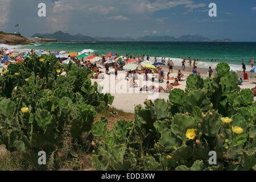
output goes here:
[{"label": "hazy blue-grey mountain range on the horizon beyond the sea", "polygon": [[183,35],[180,38],[173,36],[142,36],[137,39],[133,38],[112,38],[112,37],[96,37],[91,38],[81,34],[71,35],[62,31],[53,34],[34,34],[32,37],[56,39],[59,42],[118,42],[118,41],[138,41],[138,42],[231,42],[230,39],[210,40],[201,35]]}]

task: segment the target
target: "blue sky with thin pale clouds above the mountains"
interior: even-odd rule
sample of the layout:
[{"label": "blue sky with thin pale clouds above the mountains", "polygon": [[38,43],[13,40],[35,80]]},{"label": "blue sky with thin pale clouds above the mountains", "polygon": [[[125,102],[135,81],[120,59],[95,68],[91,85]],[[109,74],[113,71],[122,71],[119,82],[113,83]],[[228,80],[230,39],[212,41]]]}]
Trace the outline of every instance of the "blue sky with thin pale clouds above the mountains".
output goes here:
[{"label": "blue sky with thin pale clouds above the mountains", "polygon": [[[47,6],[37,16],[38,3]],[[217,17],[208,15],[216,3]],[[55,31],[88,36],[139,37],[200,34],[210,39],[256,42],[256,1],[251,0],[0,0],[0,31]]]}]

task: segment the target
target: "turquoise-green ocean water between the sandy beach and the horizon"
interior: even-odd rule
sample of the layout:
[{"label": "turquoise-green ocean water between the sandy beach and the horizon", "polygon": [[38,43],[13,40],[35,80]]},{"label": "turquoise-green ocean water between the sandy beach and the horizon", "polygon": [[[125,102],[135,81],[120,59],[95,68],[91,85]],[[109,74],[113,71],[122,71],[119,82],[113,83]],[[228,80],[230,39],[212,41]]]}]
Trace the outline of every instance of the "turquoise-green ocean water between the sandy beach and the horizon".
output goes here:
[{"label": "turquoise-green ocean water between the sandy beach and the horizon", "polygon": [[45,43],[27,46],[51,51],[74,51],[93,49],[100,55],[108,52],[118,55],[150,55],[158,57],[192,57],[203,62],[212,59],[229,64],[241,65],[241,60],[249,65],[256,56],[256,43],[243,42],[94,42],[94,43]]}]

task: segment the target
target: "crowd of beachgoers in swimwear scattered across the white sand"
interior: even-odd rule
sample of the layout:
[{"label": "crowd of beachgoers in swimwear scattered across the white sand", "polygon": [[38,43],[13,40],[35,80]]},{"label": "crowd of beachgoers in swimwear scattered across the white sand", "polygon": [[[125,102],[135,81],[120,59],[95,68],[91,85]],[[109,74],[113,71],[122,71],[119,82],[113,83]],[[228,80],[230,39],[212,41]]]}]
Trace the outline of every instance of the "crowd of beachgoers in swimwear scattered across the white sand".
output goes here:
[{"label": "crowd of beachgoers in swimwear scattered across the white sand", "polygon": [[[1,48],[0,50],[0,61],[2,61],[3,57],[7,56],[6,55],[6,51],[8,51],[7,48]],[[43,51],[41,51],[43,52]],[[51,53],[51,51],[48,51],[48,53]],[[26,52],[26,56],[30,56],[36,54],[35,50],[31,50],[29,52]],[[23,55],[21,55],[22,57]],[[94,53],[93,56],[100,56],[98,55],[98,53]],[[114,69],[114,75],[115,75],[115,79],[117,79],[118,76],[118,72],[119,71],[124,71],[123,66],[126,63],[117,63],[117,61],[114,61],[115,59],[117,59],[117,57],[119,57],[119,55],[115,54],[115,55],[111,55],[110,57],[107,56],[102,56],[102,67],[99,67],[98,64],[96,63],[91,63],[90,60],[86,60],[85,59],[78,59],[77,57],[72,57],[72,56],[68,56],[68,57],[63,57],[63,58],[58,58],[59,62],[61,64],[69,64],[69,63],[73,63],[73,64],[77,64],[77,65],[81,65],[81,67],[86,67],[88,69],[90,69],[91,71],[94,72],[93,76],[91,77],[92,79],[103,79],[104,78],[104,72],[100,71],[100,69],[105,68],[105,74],[109,75],[110,74],[110,69],[113,68]],[[1,59],[2,58],[2,59]],[[171,73],[174,72],[174,68],[175,68],[175,64],[174,61],[172,61],[171,59],[166,60],[166,57],[162,57],[161,60],[158,60],[158,58],[155,56],[154,57],[154,61],[150,60],[150,56],[147,55],[142,55],[142,56],[138,56],[138,55],[125,55],[123,56],[124,60],[136,60],[137,64],[139,65],[139,69],[136,69],[134,71],[129,71],[127,72],[127,81],[130,81],[130,88],[138,88],[139,85],[137,84],[136,80],[137,80],[137,75],[144,75],[146,81],[148,81],[150,79],[149,75],[154,73],[156,76],[152,77],[152,82],[158,82],[159,84],[164,83],[164,81],[166,80],[166,87],[163,88],[162,86],[159,86],[158,88],[155,88],[154,85],[152,86],[146,86],[144,85],[141,90],[143,91],[150,91],[150,90],[154,90],[155,92],[170,92],[172,90],[172,88],[174,86],[179,86],[181,81],[185,81],[183,78],[185,77],[185,75],[181,72],[181,71],[185,71],[186,68],[186,64],[189,64],[189,68],[192,70],[192,73],[195,75],[200,75],[199,71],[197,70],[197,63],[199,61],[199,59],[191,59],[191,57],[189,57],[187,60],[186,59],[182,59],[181,61],[181,69],[179,69],[179,71],[177,72],[177,76],[170,76]],[[113,60],[112,62],[108,62],[108,60]],[[143,63],[143,61],[152,61],[152,63],[162,63],[162,65],[168,65],[168,73],[165,74],[164,70],[162,67],[160,67],[159,65],[156,67],[156,69],[150,69],[150,68],[144,68],[141,66],[141,64]],[[6,63],[9,64],[9,63]],[[251,60],[251,68],[254,67],[254,59]],[[245,73],[246,72],[246,65],[244,63],[244,61],[242,60],[242,70]],[[65,75],[65,72],[62,72],[62,75]],[[208,77],[212,77],[213,75],[213,69],[211,67],[209,67],[208,69]],[[170,81],[174,81],[174,82],[170,82]],[[239,81],[239,84],[242,85],[243,80],[242,78]],[[256,88],[252,89],[254,96],[256,96]]]}]

